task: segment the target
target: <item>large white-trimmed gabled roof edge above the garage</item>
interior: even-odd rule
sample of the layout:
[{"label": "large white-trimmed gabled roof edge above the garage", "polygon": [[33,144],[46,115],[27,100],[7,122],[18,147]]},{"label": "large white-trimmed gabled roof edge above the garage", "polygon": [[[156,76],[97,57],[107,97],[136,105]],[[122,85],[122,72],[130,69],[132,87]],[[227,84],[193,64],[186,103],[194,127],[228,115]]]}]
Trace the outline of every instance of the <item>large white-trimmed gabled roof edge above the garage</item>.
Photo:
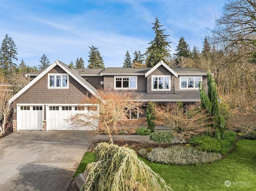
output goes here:
[{"label": "large white-trimmed gabled roof edge above the garage", "polygon": [[44,75],[46,75],[51,69],[53,69],[55,66],[61,67],[68,75],[70,75],[72,78],[74,78],[80,85],[82,85],[84,88],[86,88],[90,93],[96,96],[97,89],[94,88],[88,81],[86,81],[83,77],[81,77],[76,69],[73,69],[72,67],[69,67],[68,65],[56,60],[52,65],[50,65],[47,69],[42,71],[34,80],[32,80],[28,85],[26,85],[23,89],[21,89],[16,95],[14,95],[9,100],[9,104],[11,104],[16,98],[18,98],[22,93],[24,93],[26,90],[28,90],[32,85],[34,85],[39,79],[41,79]]}]

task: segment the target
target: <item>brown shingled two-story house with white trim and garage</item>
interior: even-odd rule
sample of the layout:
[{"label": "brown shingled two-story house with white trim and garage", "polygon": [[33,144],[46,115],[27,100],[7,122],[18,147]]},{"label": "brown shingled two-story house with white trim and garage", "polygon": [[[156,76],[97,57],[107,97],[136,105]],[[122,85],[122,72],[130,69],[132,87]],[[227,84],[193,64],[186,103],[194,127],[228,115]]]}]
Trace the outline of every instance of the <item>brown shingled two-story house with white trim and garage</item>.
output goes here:
[{"label": "brown shingled two-story house with white trim and garage", "polygon": [[[199,102],[199,82],[207,91],[207,73],[195,68],[171,68],[160,61],[152,68],[73,69],[56,60],[47,69],[27,74],[30,83],[14,95],[13,130],[89,130],[72,126],[68,118],[85,113],[87,94],[132,90],[143,102]],[[134,114],[131,118],[145,118]]]}]

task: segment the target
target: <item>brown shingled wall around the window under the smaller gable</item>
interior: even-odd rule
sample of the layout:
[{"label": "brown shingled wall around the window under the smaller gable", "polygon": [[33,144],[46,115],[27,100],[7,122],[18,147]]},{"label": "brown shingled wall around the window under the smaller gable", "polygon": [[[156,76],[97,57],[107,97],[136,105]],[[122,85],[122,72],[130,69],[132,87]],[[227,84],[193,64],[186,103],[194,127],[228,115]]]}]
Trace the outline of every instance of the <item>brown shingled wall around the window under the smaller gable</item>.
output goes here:
[{"label": "brown shingled wall around the window under the smaller gable", "polygon": [[[168,75],[171,76],[171,91],[151,91],[152,86],[152,75]],[[147,93],[174,93],[174,75],[168,71],[164,66],[160,65],[157,69],[155,69],[150,75],[147,77]]]}]

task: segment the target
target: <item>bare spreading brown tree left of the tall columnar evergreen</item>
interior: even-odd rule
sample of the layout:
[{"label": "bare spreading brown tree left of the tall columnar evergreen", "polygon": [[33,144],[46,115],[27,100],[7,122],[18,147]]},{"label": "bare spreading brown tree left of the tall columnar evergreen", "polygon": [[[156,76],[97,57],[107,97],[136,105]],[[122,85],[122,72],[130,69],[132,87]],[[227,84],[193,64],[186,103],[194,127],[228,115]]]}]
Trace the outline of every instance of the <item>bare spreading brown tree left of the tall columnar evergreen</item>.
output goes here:
[{"label": "bare spreading brown tree left of the tall columnar evergreen", "polygon": [[200,110],[200,104],[190,104],[186,108],[181,102],[158,104],[155,106],[158,123],[170,128],[173,136],[180,142],[191,136],[204,132],[212,132],[211,120],[206,110]]}]

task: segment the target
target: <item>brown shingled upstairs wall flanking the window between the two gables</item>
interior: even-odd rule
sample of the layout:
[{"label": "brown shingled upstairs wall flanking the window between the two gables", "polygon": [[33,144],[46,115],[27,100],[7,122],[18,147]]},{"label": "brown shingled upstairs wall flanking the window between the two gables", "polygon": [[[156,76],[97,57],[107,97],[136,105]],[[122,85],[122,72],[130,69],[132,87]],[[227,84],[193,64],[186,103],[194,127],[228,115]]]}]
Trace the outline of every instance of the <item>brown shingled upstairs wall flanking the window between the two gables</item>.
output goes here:
[{"label": "brown shingled upstairs wall flanking the window between the two gables", "polygon": [[[114,80],[114,76],[104,76],[104,91],[114,91]],[[135,91],[146,91],[146,84],[145,76],[137,76],[137,89]],[[120,91],[123,91],[123,89]]]}]

